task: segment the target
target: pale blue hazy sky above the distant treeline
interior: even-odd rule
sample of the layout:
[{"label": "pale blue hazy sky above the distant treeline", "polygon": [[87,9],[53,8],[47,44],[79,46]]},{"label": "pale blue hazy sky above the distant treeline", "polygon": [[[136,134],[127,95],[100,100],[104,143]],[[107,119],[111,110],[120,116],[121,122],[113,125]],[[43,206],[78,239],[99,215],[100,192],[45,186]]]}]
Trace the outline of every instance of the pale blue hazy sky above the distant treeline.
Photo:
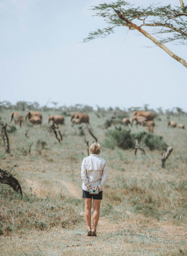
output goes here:
[{"label": "pale blue hazy sky above the distant treeline", "polygon": [[[107,38],[81,43],[106,26],[88,10],[104,2],[111,1],[0,0],[0,101],[45,105],[51,98],[59,105],[124,108],[147,103],[187,111],[187,68],[139,32],[119,27]],[[167,47],[187,60],[187,47]]]}]

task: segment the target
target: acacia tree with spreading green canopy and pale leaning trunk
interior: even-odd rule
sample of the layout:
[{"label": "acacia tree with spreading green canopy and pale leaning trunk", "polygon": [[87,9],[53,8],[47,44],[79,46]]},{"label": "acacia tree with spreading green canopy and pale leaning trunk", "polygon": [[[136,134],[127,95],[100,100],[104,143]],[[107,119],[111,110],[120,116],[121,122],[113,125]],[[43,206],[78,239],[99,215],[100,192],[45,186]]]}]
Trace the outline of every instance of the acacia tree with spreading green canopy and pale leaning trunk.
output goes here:
[{"label": "acacia tree with spreading green canopy and pale leaning trunk", "polygon": [[[180,0],[179,7],[174,8],[171,5],[156,6],[154,4],[146,8],[134,7],[131,3],[118,0],[93,6],[92,10],[96,11],[96,16],[103,17],[109,26],[89,33],[88,37],[83,40],[84,42],[98,37],[105,38],[113,33],[116,27],[126,26],[130,30],[138,30],[172,58],[187,67],[187,61],[164,45],[167,42],[187,44],[187,6],[184,6],[183,0]],[[151,28],[151,31],[147,32],[142,29],[145,26]]]}]

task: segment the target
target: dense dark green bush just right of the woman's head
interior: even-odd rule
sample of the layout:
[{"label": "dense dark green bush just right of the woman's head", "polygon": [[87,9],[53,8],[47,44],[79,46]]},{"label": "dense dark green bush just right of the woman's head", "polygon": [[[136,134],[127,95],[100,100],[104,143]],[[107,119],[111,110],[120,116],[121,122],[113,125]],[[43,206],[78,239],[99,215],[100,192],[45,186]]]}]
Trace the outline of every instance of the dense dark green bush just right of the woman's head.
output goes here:
[{"label": "dense dark green bush just right of the woman's head", "polygon": [[167,144],[161,136],[146,133],[145,131],[132,134],[130,130],[122,129],[120,126],[106,132],[104,145],[114,149],[116,146],[122,149],[134,148],[136,139],[142,146],[147,146],[150,150],[166,150]]}]

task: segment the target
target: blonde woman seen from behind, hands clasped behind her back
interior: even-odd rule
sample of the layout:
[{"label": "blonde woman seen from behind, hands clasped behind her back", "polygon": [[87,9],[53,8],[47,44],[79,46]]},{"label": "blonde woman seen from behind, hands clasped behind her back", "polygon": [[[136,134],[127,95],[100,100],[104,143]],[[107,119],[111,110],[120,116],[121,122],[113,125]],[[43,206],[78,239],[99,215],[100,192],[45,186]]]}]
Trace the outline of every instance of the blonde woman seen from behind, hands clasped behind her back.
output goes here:
[{"label": "blonde woman seen from behind, hands clasped behind her back", "polygon": [[[82,161],[82,197],[85,198],[85,219],[87,224],[87,236],[96,236],[96,227],[99,221],[99,209],[102,200],[103,185],[108,179],[108,167],[106,161],[99,156],[100,145],[94,143],[90,147],[91,155]],[[98,193],[90,193],[90,189],[98,189]],[[91,200],[94,200],[94,227],[91,230]]]}]

